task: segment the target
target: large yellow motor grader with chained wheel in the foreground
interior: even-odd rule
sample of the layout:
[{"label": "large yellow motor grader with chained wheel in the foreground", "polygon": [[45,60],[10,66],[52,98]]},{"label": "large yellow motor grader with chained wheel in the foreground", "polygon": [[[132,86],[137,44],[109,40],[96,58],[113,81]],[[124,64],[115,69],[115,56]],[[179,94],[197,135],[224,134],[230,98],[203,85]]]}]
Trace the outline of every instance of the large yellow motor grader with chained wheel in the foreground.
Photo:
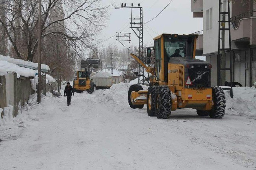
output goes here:
[{"label": "large yellow motor grader with chained wheel in the foreground", "polygon": [[212,65],[195,59],[198,35],[162,34],[154,38],[155,63],[150,67],[151,50],[146,62],[136,59],[153,75],[148,90],[132,85],[128,101],[133,109],[147,105],[147,114],[167,119],[171,111],[196,109],[200,116],[221,119],[225,114],[225,95],[220,87],[211,87]]}]

